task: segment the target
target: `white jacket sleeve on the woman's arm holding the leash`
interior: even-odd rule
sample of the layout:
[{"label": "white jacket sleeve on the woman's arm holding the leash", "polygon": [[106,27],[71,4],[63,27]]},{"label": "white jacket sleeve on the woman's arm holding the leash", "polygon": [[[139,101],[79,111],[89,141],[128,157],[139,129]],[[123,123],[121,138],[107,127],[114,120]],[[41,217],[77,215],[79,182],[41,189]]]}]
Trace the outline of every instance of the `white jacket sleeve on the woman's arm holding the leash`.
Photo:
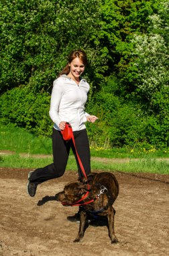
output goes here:
[{"label": "white jacket sleeve on the woman's arm holding the leash", "polygon": [[60,81],[60,79],[56,79],[54,81],[54,86],[51,94],[49,115],[50,115],[50,119],[52,119],[52,121],[56,123],[58,127],[60,122],[62,121],[58,117],[58,108],[59,108],[59,104],[60,104],[60,100],[62,98],[63,92],[64,92],[64,85],[62,84],[62,81]]}]

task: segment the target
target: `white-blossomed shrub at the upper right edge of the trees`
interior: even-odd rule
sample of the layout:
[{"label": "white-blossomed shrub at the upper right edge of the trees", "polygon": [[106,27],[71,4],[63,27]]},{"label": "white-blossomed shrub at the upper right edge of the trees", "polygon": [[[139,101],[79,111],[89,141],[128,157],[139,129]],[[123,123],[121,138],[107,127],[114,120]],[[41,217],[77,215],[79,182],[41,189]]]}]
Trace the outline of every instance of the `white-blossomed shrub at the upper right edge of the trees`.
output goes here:
[{"label": "white-blossomed shrub at the upper right edge of the trees", "polygon": [[166,2],[160,14],[150,16],[149,34],[135,34],[134,63],[138,79],[137,88],[150,100],[154,92],[168,86],[168,45],[166,34],[168,26],[165,20]]}]

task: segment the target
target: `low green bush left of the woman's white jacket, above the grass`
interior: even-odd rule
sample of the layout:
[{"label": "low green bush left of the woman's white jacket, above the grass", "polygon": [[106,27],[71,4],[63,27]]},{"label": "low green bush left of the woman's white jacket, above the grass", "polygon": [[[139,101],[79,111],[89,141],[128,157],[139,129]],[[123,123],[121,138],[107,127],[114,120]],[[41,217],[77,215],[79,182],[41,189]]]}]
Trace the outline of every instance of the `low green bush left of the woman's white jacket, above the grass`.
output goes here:
[{"label": "low green bush left of the woman's white jacket, above the grass", "polygon": [[39,135],[51,135],[50,96],[47,93],[35,94],[30,86],[21,86],[6,92],[0,100],[1,117],[5,123],[15,123]]}]

